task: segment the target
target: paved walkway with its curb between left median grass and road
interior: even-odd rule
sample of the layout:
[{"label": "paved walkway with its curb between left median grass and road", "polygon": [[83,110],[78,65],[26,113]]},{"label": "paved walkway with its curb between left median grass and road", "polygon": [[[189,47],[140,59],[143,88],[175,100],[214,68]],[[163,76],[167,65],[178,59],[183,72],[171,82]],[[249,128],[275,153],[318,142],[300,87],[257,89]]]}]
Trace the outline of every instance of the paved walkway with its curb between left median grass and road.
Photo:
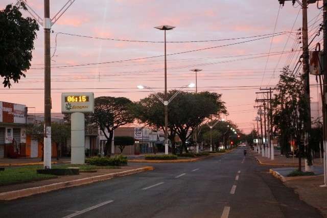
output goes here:
[{"label": "paved walkway with its curb between left median grass and road", "polygon": [[74,176],[58,176],[54,179],[26,182],[0,186],[0,201],[35,195],[67,187],[85,185],[113,177],[126,176],[143,171],[153,170],[152,166],[121,166],[120,168],[97,169],[96,173],[80,173]]}]

